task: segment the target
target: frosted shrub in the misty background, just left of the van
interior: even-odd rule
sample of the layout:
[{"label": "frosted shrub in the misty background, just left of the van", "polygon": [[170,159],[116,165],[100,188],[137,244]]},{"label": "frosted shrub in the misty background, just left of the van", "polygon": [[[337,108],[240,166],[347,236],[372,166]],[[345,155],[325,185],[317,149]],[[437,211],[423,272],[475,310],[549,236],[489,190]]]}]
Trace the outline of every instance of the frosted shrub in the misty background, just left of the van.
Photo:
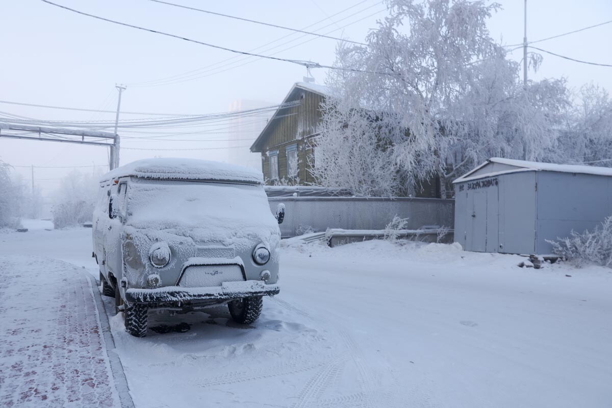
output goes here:
[{"label": "frosted shrub in the misty background, just left of the van", "polygon": [[98,176],[78,171],[62,179],[54,198],[53,224],[64,228],[91,221],[97,193]]}]

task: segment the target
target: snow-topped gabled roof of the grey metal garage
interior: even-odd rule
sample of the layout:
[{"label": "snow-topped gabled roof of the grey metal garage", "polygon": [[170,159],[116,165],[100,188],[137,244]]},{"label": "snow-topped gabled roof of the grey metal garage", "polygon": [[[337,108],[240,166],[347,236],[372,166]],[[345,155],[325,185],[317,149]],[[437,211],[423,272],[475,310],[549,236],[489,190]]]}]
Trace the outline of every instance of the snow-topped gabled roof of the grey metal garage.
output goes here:
[{"label": "snow-topped gabled roof of the grey metal garage", "polygon": [[[504,168],[499,169],[494,167],[494,163],[504,165]],[[489,166],[491,171],[486,171]],[[480,171],[483,170],[483,171]],[[578,174],[594,174],[597,176],[612,176],[612,168],[584,166],[584,165],[559,165],[556,163],[538,163],[537,161],[514,160],[510,158],[491,157],[482,165],[468,171],[463,176],[455,179],[453,183],[461,183],[469,180],[477,180],[485,177],[499,176],[500,174],[509,174],[520,171],[555,171],[565,173]]]}]

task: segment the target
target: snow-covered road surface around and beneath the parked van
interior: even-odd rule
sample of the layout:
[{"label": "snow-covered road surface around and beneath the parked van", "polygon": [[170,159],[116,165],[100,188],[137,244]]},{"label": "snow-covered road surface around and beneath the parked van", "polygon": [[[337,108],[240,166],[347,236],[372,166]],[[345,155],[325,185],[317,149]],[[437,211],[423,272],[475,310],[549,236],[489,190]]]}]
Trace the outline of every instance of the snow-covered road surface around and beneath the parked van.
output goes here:
[{"label": "snow-covered road surface around and beneath the parked van", "polygon": [[[91,229],[3,233],[0,254],[97,277]],[[250,327],[226,308],[160,313],[139,339],[105,303],[136,407],[612,406],[612,273],[520,261],[292,240],[281,294]]]}]

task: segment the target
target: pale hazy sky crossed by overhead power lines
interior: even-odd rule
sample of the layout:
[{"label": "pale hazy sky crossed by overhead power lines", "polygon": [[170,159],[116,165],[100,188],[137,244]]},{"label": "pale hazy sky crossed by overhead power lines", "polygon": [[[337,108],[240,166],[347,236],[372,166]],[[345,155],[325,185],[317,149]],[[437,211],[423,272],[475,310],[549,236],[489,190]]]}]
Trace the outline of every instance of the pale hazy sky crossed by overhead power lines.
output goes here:
[{"label": "pale hazy sky crossed by overhead power lines", "polygon": [[[298,29],[305,29],[320,21],[307,30],[356,41],[363,41],[368,30],[376,27],[376,19],[386,15],[384,3],[375,0],[170,1]],[[256,52],[327,65],[334,62],[334,40],[310,35],[299,38],[302,34],[147,0],[54,2],[236,50],[250,51],[276,40]],[[521,43],[523,0],[499,2],[503,10],[490,20],[488,26],[491,34],[504,44]],[[338,13],[351,6],[351,9]],[[338,15],[329,18],[335,13]],[[93,20],[40,0],[2,0],[0,15],[0,100],[114,110],[117,103],[114,84],[125,83],[127,90],[123,94],[122,110],[206,114],[227,111],[230,103],[238,99],[280,103],[291,85],[301,81],[306,73],[298,65],[236,56],[227,51]],[[612,20],[610,0],[529,0],[528,40],[539,40],[607,20]],[[329,26],[323,28],[326,25]],[[612,24],[607,24],[537,46],[576,59],[612,64],[611,39]],[[310,41],[302,44],[307,40]],[[572,87],[593,81],[608,90],[612,89],[611,67],[579,64],[547,54],[543,56],[540,71],[536,74],[530,72],[532,78],[565,76]],[[512,57],[517,61],[521,59],[522,50],[515,51]],[[196,71],[198,75],[193,75],[195,80],[178,81],[180,77],[176,78],[177,75],[198,69],[201,69]],[[313,70],[313,74],[318,83],[323,83],[325,70]],[[174,78],[162,86],[135,86],[136,83],[168,77]],[[114,114],[80,113],[5,103],[0,103],[0,111],[37,119],[114,120]],[[122,116],[122,119],[129,118],[133,116]],[[138,135],[132,133],[131,136]],[[169,143],[125,138],[122,146],[150,149],[227,146],[225,141],[210,141],[215,138],[225,140],[227,133],[191,137],[207,141]],[[227,157],[222,149],[174,152],[122,150],[121,163],[154,155],[211,160],[226,160]],[[18,166],[91,166],[108,162],[105,147],[1,138],[0,158]],[[24,180],[29,180],[29,169],[16,168],[16,171],[23,174]],[[43,187],[45,193],[49,193],[68,171],[37,169],[35,179],[40,179],[37,184]]]}]

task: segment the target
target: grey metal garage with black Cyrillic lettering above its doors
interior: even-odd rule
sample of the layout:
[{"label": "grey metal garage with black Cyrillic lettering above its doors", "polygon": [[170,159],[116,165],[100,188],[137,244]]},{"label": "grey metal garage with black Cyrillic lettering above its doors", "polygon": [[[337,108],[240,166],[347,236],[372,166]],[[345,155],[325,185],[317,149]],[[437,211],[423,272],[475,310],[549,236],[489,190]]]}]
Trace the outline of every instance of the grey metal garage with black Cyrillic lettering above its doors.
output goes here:
[{"label": "grey metal garage with black Cyrillic lettering above its doors", "polygon": [[612,168],[490,158],[453,182],[466,251],[550,254],[546,240],[612,215]]}]

